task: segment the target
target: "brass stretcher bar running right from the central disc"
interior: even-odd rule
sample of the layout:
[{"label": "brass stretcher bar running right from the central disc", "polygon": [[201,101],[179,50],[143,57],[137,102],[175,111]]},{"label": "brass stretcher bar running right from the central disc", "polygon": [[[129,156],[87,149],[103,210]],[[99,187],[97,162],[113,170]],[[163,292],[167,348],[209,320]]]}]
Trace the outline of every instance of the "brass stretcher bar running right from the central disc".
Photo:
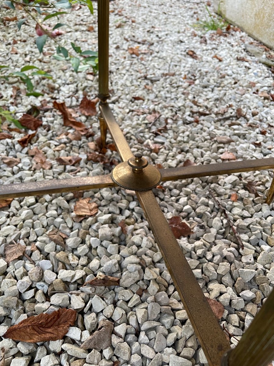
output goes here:
[{"label": "brass stretcher bar running right from the central disc", "polygon": [[209,175],[222,175],[261,169],[273,169],[274,158],[240,160],[229,163],[191,165],[188,167],[159,169],[162,181],[206,177]]}]

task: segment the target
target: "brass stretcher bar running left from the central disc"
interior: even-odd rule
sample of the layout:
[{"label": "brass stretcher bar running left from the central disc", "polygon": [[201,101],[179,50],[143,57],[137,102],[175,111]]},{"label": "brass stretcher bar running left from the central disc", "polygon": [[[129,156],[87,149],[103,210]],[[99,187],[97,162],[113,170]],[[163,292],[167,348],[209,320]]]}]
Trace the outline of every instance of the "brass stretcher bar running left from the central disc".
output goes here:
[{"label": "brass stretcher bar running left from the central disc", "polygon": [[105,187],[117,187],[117,184],[113,182],[110,175],[3,184],[0,186],[0,199],[83,191]]}]

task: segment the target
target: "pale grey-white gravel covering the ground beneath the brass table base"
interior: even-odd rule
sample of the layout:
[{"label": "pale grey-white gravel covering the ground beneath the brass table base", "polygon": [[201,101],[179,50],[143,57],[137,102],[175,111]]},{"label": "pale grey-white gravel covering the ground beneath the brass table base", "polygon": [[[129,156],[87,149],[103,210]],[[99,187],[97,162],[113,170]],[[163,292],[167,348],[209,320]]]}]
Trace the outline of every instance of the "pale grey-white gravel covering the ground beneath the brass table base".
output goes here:
[{"label": "pale grey-white gravel covering the ground beneath the brass table base", "polygon": [[[274,103],[267,97],[274,94],[273,77],[270,68],[245,51],[244,44],[252,38],[233,29],[221,36],[194,29],[196,18],[204,17],[200,1],[116,0],[110,9],[110,103],[133,152],[142,152],[150,163],[166,168],[182,166],[187,159],[196,164],[221,163],[225,152],[238,160],[274,157]],[[86,12],[84,17],[79,11],[67,18],[64,23],[75,24],[76,32],[59,40],[67,38],[83,49],[96,49],[96,31],[86,31],[90,25],[96,28],[95,16]],[[45,96],[21,94],[16,103],[12,85],[2,83],[0,105],[19,112],[31,104],[40,105],[43,99],[49,105],[56,99],[72,106],[79,104],[83,91],[95,96],[97,76],[76,75],[66,64],[40,56],[27,26],[16,34],[12,27],[1,31],[1,64],[16,70],[26,63],[35,64],[50,71],[54,81],[37,81],[36,89]],[[9,54],[13,40],[18,41],[18,53]],[[128,52],[136,46],[138,57]],[[45,51],[53,48],[47,45]],[[188,51],[194,51],[197,58]],[[153,112],[161,116],[151,125],[146,117]],[[17,132],[12,132],[13,139],[1,140],[1,156],[20,159],[12,168],[0,160],[1,184],[109,173],[112,165],[87,161],[87,143],[99,136],[96,117],[81,115],[79,120],[92,124],[93,137],[57,139],[74,130],[64,127],[61,116],[50,109],[42,114],[43,125],[28,147],[19,145],[23,135]],[[165,124],[167,128],[159,134]],[[224,136],[231,142],[218,141],[217,137]],[[35,146],[52,163],[50,169],[32,169],[28,149]],[[80,169],[55,160],[71,155],[80,156]],[[106,155],[118,160],[117,152],[108,150]],[[272,204],[264,203],[272,177],[270,171],[220,175],[166,182],[164,189],[154,190],[166,218],[179,215],[193,229],[194,234],[178,242],[205,296],[224,305],[220,325],[234,336],[232,347],[274,285],[274,210]],[[248,182],[256,183],[258,194],[250,193]],[[238,227],[244,249],[239,248],[209,188]],[[238,195],[236,202],[231,200],[232,193]],[[9,211],[0,212],[0,335],[30,315],[59,307],[72,307],[78,313],[75,326],[63,340],[38,345],[3,339],[0,348],[5,347],[7,365],[111,366],[117,360],[125,366],[206,365],[134,194],[105,188],[85,192],[83,197],[91,197],[99,212],[80,223],[73,220],[77,199],[72,193],[14,199]],[[118,226],[122,220],[126,235]],[[53,228],[68,235],[65,249],[47,236]],[[27,246],[35,266],[26,257],[6,264],[4,248],[13,240]],[[32,243],[37,250],[31,250]],[[51,294],[83,291],[84,280],[100,273],[121,277],[119,287],[96,288],[103,299],[88,293]],[[136,294],[140,288],[144,290],[141,296]],[[114,329],[119,336],[113,334],[112,346],[101,352],[81,350],[79,346],[102,319],[117,320]]]}]

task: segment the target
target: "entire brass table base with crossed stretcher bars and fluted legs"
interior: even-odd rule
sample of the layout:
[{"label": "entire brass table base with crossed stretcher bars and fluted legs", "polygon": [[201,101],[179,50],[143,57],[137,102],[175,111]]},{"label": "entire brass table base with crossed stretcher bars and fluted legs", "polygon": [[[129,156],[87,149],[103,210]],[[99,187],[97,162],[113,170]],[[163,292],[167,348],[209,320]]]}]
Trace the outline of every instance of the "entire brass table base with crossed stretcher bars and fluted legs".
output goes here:
[{"label": "entire brass table base with crossed stretcher bars and fluted legs", "polygon": [[[102,143],[103,146],[106,143],[108,130],[122,163],[117,165],[109,175],[3,185],[0,199],[117,186],[136,191],[209,366],[268,365],[274,356],[274,291],[271,292],[239,344],[230,350],[224,331],[218,324],[151,189],[160,182],[168,180],[273,169],[274,158],[156,169],[148,164],[142,154],[137,153],[133,156],[107,104],[109,98],[109,0],[98,1],[98,47],[99,122]],[[272,182],[267,203],[272,201],[273,195],[274,183]]]}]

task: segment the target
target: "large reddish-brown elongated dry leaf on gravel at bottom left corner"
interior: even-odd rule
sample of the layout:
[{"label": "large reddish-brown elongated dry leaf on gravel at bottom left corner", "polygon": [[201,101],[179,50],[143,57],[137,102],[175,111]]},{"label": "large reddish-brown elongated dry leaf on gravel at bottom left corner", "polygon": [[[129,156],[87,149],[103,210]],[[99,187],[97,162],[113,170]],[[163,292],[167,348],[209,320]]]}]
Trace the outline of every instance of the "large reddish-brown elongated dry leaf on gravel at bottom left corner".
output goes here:
[{"label": "large reddish-brown elongated dry leaf on gravel at bottom left corner", "polygon": [[73,309],[58,309],[51,314],[29,317],[11,326],[3,337],[31,343],[57,341],[74,324],[76,314]]}]

